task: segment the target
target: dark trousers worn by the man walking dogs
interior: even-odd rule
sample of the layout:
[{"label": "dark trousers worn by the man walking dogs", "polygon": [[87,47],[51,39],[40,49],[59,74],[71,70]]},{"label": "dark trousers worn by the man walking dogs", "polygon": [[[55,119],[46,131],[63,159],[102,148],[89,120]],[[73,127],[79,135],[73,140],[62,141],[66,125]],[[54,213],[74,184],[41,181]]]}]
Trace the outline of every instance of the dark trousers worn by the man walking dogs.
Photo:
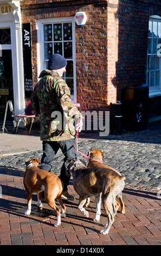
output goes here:
[{"label": "dark trousers worn by the man walking dogs", "polygon": [[[75,158],[76,150],[73,148],[73,142],[74,139],[67,139],[65,141],[43,141],[43,155],[41,159],[41,168],[43,170],[48,170],[50,172],[52,166],[52,162],[54,159],[54,156],[56,155],[57,151],[59,149],[62,150],[63,155],[65,155],[65,158],[63,159],[64,162]],[[60,170],[60,176],[59,178],[63,182],[64,185],[64,191],[67,191],[67,186],[69,185],[70,176],[68,176],[66,172],[65,163],[63,163],[61,170]]]}]

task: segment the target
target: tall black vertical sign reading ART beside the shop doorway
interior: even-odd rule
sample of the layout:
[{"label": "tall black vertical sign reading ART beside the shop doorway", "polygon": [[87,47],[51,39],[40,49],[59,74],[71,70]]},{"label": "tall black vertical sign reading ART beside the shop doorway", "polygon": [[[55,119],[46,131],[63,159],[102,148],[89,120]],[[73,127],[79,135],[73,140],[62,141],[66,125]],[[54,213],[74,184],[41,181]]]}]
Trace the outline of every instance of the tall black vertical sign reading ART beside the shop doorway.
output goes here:
[{"label": "tall black vertical sign reading ART beside the shop doorway", "polygon": [[30,98],[33,92],[33,65],[31,47],[31,24],[22,24],[23,38],[23,69],[24,69],[24,95]]}]

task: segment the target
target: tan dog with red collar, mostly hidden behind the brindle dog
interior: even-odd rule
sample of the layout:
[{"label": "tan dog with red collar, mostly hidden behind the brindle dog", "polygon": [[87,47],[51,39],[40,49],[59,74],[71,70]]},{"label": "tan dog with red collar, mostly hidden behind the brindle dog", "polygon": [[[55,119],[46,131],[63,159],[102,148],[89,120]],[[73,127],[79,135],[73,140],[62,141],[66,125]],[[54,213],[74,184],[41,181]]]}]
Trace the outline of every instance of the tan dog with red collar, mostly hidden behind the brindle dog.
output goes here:
[{"label": "tan dog with red collar, mostly hidden behind the brindle dog", "polygon": [[[117,170],[115,170],[115,169],[113,169],[113,168],[111,168],[109,166],[106,166],[105,164],[101,163],[102,162],[102,158],[105,157],[105,154],[102,152],[102,150],[92,149],[92,150],[90,150],[88,152],[88,156],[92,158],[88,162],[88,165],[87,165],[88,168],[95,168],[95,167],[107,168],[107,169],[110,169],[110,170],[112,170],[114,172],[117,172],[121,176],[121,174]],[[100,162],[98,162],[98,160]],[[121,211],[120,212],[122,214],[125,214],[125,205],[124,205],[124,202],[123,202],[122,195],[120,195],[120,197],[118,199],[119,199],[120,204],[117,201],[115,201],[115,206],[119,209],[119,206],[121,205]],[[89,202],[90,202],[90,199],[88,198],[87,199],[87,203],[85,205],[86,207],[88,207]]]}]

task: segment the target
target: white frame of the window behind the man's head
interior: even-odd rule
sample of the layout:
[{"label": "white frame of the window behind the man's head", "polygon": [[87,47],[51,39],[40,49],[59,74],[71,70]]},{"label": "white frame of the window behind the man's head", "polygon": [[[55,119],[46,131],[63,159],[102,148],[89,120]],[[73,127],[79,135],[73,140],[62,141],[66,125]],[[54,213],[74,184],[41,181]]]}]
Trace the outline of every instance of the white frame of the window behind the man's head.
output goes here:
[{"label": "white frame of the window behind the man's head", "polygon": [[[60,22],[72,22],[72,51],[73,51],[73,83],[74,83],[74,95],[72,95],[73,103],[76,103],[76,54],[75,54],[75,20],[74,17],[57,17],[49,19],[37,20],[37,52],[38,52],[38,75],[44,69],[46,69],[46,62],[44,62],[44,38],[43,38],[43,25],[49,23],[60,23]],[[71,60],[71,59],[69,59]],[[68,61],[68,59],[67,59]]]}]

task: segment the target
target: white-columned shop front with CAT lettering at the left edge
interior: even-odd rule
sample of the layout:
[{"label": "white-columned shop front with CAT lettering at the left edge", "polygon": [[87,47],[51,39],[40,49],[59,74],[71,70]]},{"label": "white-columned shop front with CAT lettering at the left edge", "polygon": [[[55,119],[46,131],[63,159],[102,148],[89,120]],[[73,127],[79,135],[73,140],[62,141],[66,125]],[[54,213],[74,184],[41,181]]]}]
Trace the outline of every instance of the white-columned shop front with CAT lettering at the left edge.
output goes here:
[{"label": "white-columned shop front with CAT lettering at the left edge", "polygon": [[[0,122],[4,120],[7,101],[15,114],[24,111],[21,9],[18,1],[0,3]],[[11,121],[8,112],[7,122]]]}]

